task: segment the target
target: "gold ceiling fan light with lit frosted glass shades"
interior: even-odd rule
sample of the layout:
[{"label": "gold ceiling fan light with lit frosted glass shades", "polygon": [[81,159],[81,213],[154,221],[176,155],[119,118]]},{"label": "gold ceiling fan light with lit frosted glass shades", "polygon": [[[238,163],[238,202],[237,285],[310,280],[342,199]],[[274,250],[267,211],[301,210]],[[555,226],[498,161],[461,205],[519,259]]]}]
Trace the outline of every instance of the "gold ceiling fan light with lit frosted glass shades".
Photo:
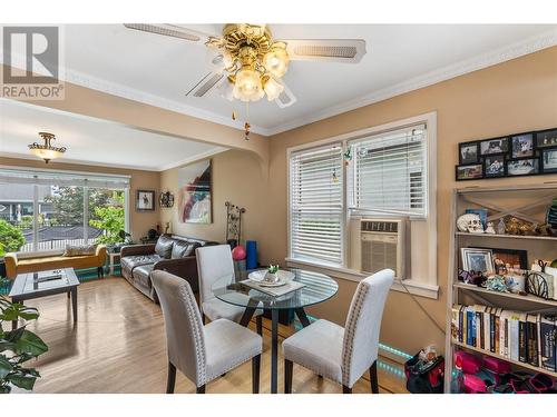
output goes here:
[{"label": "gold ceiling fan light with lit frosted glass shades", "polygon": [[[257,101],[266,95],[273,101],[284,91],[281,78],[290,62],[286,43],[273,41],[265,24],[226,24],[223,37],[209,37],[206,44],[223,56],[228,77],[222,92],[229,100]],[[232,95],[228,85],[234,86]]]}]

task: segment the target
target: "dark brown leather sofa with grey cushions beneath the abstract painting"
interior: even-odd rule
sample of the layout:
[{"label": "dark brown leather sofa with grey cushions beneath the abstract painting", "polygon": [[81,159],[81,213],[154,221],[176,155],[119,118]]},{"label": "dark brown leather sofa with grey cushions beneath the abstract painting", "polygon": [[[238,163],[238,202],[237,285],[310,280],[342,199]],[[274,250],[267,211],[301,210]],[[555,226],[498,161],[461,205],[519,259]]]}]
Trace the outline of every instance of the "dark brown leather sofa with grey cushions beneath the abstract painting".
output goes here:
[{"label": "dark brown leather sofa with grey cushions beneath the abstract painting", "polygon": [[150,279],[154,270],[165,270],[184,278],[197,292],[199,284],[195,249],[206,245],[217,242],[162,235],[156,244],[124,246],[120,252],[121,276],[155,302],[158,302],[158,297]]}]

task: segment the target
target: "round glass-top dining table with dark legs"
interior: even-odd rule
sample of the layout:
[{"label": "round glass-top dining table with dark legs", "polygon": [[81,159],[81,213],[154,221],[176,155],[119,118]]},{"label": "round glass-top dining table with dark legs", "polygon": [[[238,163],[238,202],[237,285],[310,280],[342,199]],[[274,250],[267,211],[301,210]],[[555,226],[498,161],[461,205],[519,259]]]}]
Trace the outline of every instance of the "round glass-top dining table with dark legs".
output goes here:
[{"label": "round glass-top dining table with dark legs", "polygon": [[304,308],[330,299],[339,290],[336,281],[324,274],[303,269],[289,270],[294,274],[293,280],[302,287],[282,296],[272,296],[243,282],[248,279],[251,270],[222,277],[212,287],[219,300],[245,308],[240,320],[242,326],[250,324],[256,309],[271,311],[271,394],[277,393],[278,312],[293,310],[303,327],[310,326]]}]

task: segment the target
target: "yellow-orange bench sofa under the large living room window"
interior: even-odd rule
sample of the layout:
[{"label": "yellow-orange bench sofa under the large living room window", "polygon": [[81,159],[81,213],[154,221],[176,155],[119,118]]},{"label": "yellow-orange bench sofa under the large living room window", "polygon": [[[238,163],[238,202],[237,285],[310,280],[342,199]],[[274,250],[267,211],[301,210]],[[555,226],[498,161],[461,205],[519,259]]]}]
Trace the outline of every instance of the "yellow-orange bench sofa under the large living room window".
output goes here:
[{"label": "yellow-orange bench sofa under the large living room window", "polygon": [[19,274],[37,272],[58,268],[97,268],[98,277],[104,276],[106,246],[97,245],[94,255],[63,256],[62,252],[9,252],[4,256],[6,276],[14,279]]}]

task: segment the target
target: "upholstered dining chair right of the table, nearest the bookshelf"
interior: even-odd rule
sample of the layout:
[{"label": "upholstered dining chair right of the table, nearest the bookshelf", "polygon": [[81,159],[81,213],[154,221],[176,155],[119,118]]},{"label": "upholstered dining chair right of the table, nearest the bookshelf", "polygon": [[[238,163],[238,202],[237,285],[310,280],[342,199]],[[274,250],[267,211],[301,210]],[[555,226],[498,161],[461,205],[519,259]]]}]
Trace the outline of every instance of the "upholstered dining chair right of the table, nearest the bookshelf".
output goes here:
[{"label": "upholstered dining chair right of the table, nearest the bookshelf", "polygon": [[283,341],[284,393],[292,393],[295,363],[342,384],[344,394],[351,394],[354,384],[369,369],[371,391],[379,394],[379,330],[393,280],[394,272],[383,269],[360,281],[344,327],[317,320]]}]

